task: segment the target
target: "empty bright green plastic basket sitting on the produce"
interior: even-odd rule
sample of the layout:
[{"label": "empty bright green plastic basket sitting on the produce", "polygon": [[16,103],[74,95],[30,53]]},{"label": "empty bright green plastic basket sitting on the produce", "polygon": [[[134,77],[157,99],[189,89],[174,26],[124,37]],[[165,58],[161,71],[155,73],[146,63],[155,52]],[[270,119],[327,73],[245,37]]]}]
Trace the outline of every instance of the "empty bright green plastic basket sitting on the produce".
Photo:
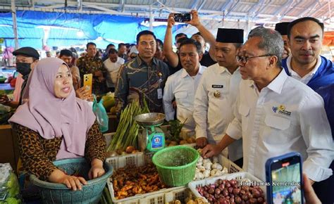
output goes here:
[{"label": "empty bright green plastic basket sitting on the produce", "polygon": [[173,146],[154,154],[156,165],[163,183],[168,186],[183,186],[194,179],[199,153],[187,146]]}]

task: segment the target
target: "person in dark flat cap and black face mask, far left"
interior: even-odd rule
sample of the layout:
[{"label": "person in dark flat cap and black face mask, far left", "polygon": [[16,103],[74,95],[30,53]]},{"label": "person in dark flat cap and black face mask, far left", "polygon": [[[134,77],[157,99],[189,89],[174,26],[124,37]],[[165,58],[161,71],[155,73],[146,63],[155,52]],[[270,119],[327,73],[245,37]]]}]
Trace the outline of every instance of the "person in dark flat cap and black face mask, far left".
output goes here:
[{"label": "person in dark flat cap and black face mask, far left", "polygon": [[5,106],[11,106],[17,108],[22,103],[22,95],[27,84],[27,78],[29,77],[30,71],[35,67],[39,59],[39,53],[32,47],[26,46],[17,49],[13,52],[16,56],[16,70],[20,73],[19,77],[16,78],[14,100],[9,101],[6,95],[0,96],[0,103]]}]

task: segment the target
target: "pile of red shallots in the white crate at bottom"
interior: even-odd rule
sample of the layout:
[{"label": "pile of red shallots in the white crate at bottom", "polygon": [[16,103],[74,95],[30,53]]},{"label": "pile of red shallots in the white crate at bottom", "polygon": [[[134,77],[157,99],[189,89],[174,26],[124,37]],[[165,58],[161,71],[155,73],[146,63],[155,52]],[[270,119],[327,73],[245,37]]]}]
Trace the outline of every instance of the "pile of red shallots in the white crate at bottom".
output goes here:
[{"label": "pile of red shallots in the white crate at bottom", "polygon": [[197,187],[197,191],[209,203],[266,203],[259,186],[240,186],[235,179],[217,179],[214,184]]}]

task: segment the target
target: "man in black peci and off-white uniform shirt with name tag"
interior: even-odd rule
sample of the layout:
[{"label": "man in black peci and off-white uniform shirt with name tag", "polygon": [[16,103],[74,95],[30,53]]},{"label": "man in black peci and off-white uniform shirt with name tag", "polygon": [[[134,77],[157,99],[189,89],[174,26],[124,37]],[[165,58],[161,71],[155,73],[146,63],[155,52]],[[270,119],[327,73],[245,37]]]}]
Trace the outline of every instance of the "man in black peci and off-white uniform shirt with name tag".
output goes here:
[{"label": "man in black peci and off-white uniform shirt with name tag", "polygon": [[[201,148],[208,142],[219,143],[234,119],[233,107],[241,80],[235,55],[243,42],[244,30],[218,28],[214,47],[218,63],[204,72],[194,100],[196,144]],[[228,157],[242,166],[242,139],[228,147]]]}]

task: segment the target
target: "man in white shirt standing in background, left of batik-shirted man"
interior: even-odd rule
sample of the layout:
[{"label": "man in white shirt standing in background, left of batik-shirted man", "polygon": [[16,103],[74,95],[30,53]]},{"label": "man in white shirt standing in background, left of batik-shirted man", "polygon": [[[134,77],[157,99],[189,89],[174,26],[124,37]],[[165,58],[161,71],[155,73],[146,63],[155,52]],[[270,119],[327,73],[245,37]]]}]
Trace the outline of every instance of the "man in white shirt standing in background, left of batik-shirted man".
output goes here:
[{"label": "man in white shirt standing in background, left of batik-shirted man", "polygon": [[115,86],[117,82],[117,75],[120,66],[124,64],[125,60],[118,57],[116,49],[109,49],[109,57],[104,61],[103,65],[106,70],[108,70],[109,75],[106,77],[106,85],[109,91],[115,91]]}]

